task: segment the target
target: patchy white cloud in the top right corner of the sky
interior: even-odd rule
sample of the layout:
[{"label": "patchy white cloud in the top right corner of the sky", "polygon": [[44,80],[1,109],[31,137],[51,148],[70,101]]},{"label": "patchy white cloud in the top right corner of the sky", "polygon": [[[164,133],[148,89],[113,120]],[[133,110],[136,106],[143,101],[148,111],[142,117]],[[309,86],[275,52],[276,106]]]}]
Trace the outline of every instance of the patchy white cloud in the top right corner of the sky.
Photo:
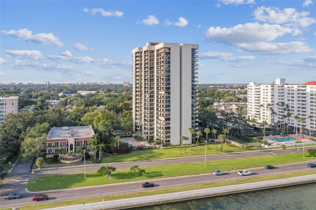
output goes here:
[{"label": "patchy white cloud in the top right corner of the sky", "polygon": [[253,14],[255,20],[273,24],[284,24],[285,26],[307,27],[316,23],[315,19],[307,17],[310,15],[310,12],[298,12],[295,8],[280,10],[276,7],[261,6],[255,9]]}]

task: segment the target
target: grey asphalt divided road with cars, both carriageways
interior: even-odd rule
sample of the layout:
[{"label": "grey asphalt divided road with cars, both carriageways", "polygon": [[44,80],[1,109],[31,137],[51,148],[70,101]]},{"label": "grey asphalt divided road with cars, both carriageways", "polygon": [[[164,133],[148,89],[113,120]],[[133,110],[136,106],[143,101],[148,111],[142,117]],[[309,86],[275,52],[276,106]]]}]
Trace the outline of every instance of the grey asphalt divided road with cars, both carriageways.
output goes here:
[{"label": "grey asphalt divided road with cars, both carriageways", "polygon": [[[286,153],[297,152],[297,149],[287,149],[284,151]],[[216,155],[216,156],[207,156],[207,161],[210,160],[223,160],[223,159],[233,159],[233,158],[244,158],[244,157],[254,157],[254,156],[265,156],[273,154],[281,154],[281,150],[265,150],[265,151],[254,151],[247,153],[235,153],[235,154],[225,154],[225,155]],[[167,164],[179,164],[179,163],[192,163],[192,162],[203,162],[204,157],[194,157],[194,158],[181,158],[181,159],[170,159],[170,160],[159,160],[159,161],[147,161],[147,162],[137,162],[139,167],[147,166],[157,166],[157,165],[167,165]],[[268,164],[268,163],[267,163]],[[125,169],[134,166],[135,163],[121,163],[121,164],[110,164],[111,166],[116,167],[117,169]],[[86,172],[97,171],[100,166],[90,166],[85,167]],[[283,174],[290,172],[297,172],[302,170],[315,170],[307,167],[307,163],[293,163],[277,166],[274,170],[268,170],[264,167],[249,169],[252,172],[251,177],[264,176],[264,175],[275,175]],[[54,170],[42,170],[42,175],[57,175],[57,174],[70,174],[70,173],[83,173],[83,167],[81,168],[63,168],[63,169],[54,169]],[[32,195],[34,193],[28,193],[25,190],[25,184],[31,178],[39,176],[40,173],[37,172],[35,175],[32,175],[30,172],[22,173],[12,173],[9,174],[7,178],[3,181],[3,186],[1,189],[1,197],[3,198],[8,192],[17,192],[22,194],[20,199],[14,200],[1,200],[1,208],[15,208],[26,205],[34,205],[35,202],[32,201]],[[49,199],[47,201],[41,202],[59,202],[67,201],[74,199],[89,199],[91,197],[101,197],[114,194],[122,193],[131,193],[131,192],[140,192],[145,190],[152,189],[164,189],[170,187],[184,186],[184,185],[193,185],[193,184],[202,184],[210,183],[223,180],[234,180],[240,178],[247,178],[249,176],[238,176],[236,171],[229,171],[225,175],[215,176],[213,174],[201,174],[201,175],[189,175],[181,177],[168,177],[168,178],[159,178],[153,180],[146,180],[154,182],[156,185],[154,188],[142,188],[141,183],[144,181],[133,181],[133,182],[123,182],[116,184],[107,184],[107,185],[98,185],[98,186],[88,186],[80,188],[71,188],[71,189],[61,189],[46,192]]]}]

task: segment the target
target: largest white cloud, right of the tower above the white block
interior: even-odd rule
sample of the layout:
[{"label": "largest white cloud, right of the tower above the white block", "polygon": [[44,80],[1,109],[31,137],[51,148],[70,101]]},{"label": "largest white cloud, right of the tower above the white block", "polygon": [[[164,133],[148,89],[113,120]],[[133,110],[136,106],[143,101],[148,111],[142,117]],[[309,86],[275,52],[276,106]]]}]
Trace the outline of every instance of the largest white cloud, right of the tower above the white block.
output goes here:
[{"label": "largest white cloud, right of the tower above the white block", "polygon": [[299,34],[297,29],[259,23],[246,23],[232,28],[211,27],[205,32],[210,42],[219,42],[238,46],[243,51],[259,54],[286,54],[311,52],[304,42],[272,43],[271,41],[285,34]]}]

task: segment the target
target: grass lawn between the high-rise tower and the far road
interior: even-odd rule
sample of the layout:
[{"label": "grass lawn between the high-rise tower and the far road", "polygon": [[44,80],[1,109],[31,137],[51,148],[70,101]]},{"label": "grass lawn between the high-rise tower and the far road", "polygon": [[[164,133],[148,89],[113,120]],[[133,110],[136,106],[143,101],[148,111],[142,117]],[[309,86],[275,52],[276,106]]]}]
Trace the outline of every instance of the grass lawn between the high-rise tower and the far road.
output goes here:
[{"label": "grass lawn between the high-rise tower and the far road", "polygon": [[[220,150],[220,143],[217,142],[217,150],[215,149],[215,142],[210,142],[208,149],[206,151],[207,155],[210,154],[225,154],[232,152],[246,152],[246,151],[256,151],[256,150],[266,150],[261,146],[258,147],[238,147],[231,143],[223,144],[223,152]],[[144,160],[154,160],[162,158],[179,158],[179,157],[191,157],[191,156],[200,156],[205,154],[205,144],[197,144],[196,152],[194,151],[195,145],[187,145],[186,151],[184,152],[184,147],[182,148],[182,154],[180,154],[181,147],[164,147],[163,149],[145,149],[145,150],[136,150],[132,151],[129,154],[124,155],[113,155],[109,153],[104,153],[101,159],[101,163],[118,163],[123,161],[144,161]]]}]

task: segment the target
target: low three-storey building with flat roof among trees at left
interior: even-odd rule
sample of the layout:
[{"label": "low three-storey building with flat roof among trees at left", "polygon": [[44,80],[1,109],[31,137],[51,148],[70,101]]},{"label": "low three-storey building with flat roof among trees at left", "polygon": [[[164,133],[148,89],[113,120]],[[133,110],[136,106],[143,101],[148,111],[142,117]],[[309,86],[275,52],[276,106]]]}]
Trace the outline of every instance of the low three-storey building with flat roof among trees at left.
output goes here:
[{"label": "low three-storey building with flat roof among trees at left", "polygon": [[46,139],[47,158],[57,154],[56,149],[62,149],[65,153],[76,152],[79,147],[85,146],[86,151],[91,151],[89,145],[91,137],[95,135],[91,125],[74,127],[53,127]]}]

